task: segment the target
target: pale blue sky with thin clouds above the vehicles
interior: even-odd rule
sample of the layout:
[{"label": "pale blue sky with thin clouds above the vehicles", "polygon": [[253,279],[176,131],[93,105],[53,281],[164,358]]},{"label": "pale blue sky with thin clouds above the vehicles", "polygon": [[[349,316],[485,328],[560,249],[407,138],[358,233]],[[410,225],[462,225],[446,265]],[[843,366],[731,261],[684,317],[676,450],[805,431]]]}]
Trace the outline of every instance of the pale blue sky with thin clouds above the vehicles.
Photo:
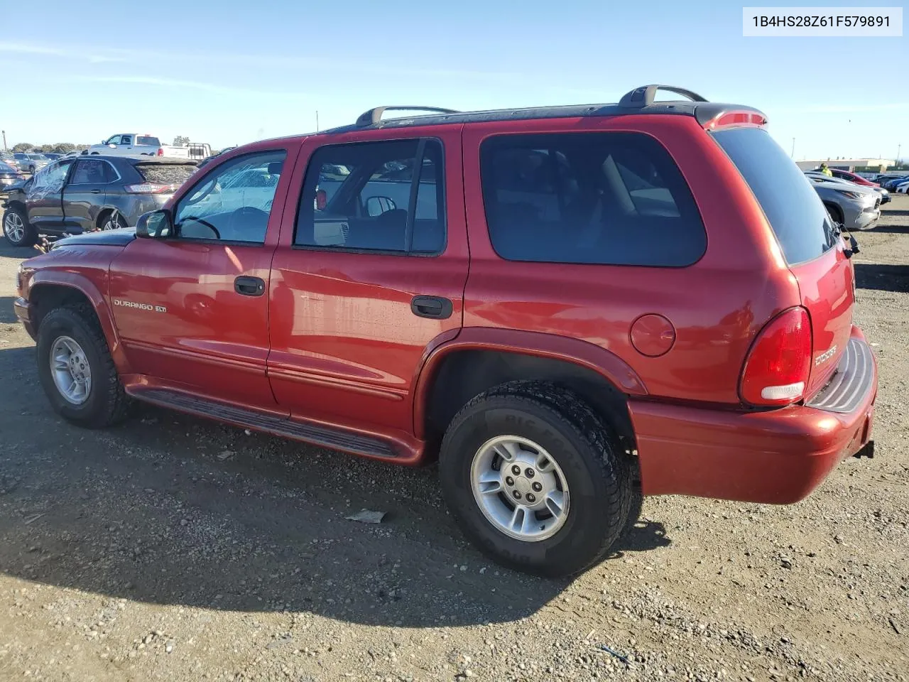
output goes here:
[{"label": "pale blue sky with thin clouds above the vehicles", "polygon": [[376,105],[604,103],[664,83],[761,108],[796,159],[909,156],[906,37],[745,38],[743,4],[761,3],[9,2],[0,127],[10,146],[138,132],[219,148],[309,132],[316,110],[325,128]]}]

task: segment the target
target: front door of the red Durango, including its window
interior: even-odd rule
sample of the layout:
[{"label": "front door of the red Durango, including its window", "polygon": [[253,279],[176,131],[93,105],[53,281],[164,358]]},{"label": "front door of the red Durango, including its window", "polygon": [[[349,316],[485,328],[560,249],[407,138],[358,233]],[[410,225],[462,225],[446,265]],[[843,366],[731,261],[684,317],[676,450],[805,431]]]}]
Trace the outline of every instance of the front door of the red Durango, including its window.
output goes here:
[{"label": "front door of the red Durango, including its window", "polygon": [[[198,395],[275,407],[265,376],[267,293],[281,221],[273,206],[283,206],[291,151],[269,148],[200,174],[173,208],[174,235],[137,238],[115,258],[111,306],[135,372]],[[242,176],[256,183],[248,202]],[[259,186],[264,176],[271,198]]]}]

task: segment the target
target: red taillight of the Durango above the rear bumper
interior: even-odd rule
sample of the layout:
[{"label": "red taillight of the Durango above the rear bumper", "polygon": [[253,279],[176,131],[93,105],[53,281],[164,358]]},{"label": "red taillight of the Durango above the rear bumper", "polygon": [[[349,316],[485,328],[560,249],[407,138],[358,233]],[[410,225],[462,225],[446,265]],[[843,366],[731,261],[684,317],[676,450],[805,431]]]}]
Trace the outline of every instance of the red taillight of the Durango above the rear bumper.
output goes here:
[{"label": "red taillight of the Durango above the rear bumper", "polygon": [[811,372],[811,320],[803,307],[784,310],[754,340],[739,393],[746,403],[781,406],[804,396]]}]

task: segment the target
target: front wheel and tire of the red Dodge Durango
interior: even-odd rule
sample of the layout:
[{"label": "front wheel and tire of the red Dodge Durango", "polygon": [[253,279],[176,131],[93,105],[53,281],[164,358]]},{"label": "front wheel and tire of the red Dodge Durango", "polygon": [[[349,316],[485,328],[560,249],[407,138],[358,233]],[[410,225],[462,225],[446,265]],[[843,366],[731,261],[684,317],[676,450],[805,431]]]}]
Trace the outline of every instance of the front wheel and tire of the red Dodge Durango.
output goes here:
[{"label": "front wheel and tire of the red Dodge Durango", "polygon": [[67,421],[103,428],[125,418],[129,398],[90,306],[55,308],[44,316],[37,360],[41,386]]}]

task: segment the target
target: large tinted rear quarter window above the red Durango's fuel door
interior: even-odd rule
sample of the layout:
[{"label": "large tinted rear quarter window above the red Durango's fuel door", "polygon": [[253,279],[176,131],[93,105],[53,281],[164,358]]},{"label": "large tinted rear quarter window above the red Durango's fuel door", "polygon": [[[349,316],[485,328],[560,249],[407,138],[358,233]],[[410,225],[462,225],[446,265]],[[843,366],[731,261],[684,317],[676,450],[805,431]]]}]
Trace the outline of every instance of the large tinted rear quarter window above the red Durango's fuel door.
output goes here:
[{"label": "large tinted rear quarter window above the red Durango's fuel door", "polygon": [[507,260],[680,267],[704,255],[691,190],[649,135],[498,135],[480,162],[489,236]]}]

